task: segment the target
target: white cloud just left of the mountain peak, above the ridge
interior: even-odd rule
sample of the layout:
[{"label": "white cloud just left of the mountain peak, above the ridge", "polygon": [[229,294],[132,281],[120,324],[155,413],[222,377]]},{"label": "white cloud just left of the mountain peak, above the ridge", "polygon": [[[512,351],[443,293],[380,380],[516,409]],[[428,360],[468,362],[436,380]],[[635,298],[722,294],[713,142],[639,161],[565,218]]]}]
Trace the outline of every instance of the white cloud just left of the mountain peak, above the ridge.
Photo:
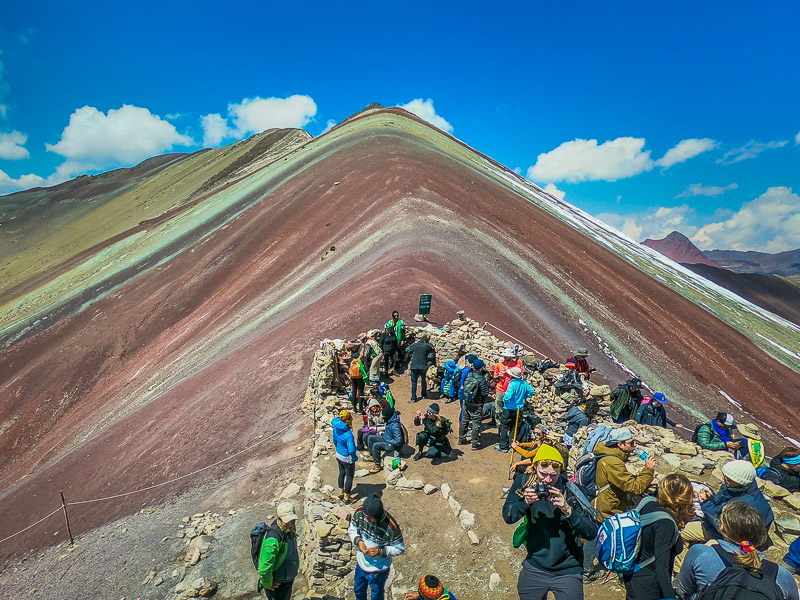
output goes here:
[{"label": "white cloud just left of the mountain peak, above the ridge", "polygon": [[[244,98],[228,105],[228,117],[219,113],[201,118],[204,145],[218,146],[223,139],[242,139],[267,129],[301,128],[317,114],[317,104],[310,96],[295,94],[288,98]],[[231,125],[228,125],[228,119]]]}]

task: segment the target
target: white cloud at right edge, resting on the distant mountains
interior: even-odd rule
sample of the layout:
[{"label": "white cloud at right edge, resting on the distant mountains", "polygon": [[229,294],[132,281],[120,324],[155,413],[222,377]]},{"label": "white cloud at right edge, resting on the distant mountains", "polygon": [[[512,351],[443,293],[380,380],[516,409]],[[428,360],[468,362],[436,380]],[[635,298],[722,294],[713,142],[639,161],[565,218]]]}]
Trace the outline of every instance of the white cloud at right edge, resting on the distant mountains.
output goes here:
[{"label": "white cloud at right edge, resting on the distant mountains", "polygon": [[800,247],[800,196],[771,187],[728,218],[701,227],[692,241],[703,249],[783,252]]}]

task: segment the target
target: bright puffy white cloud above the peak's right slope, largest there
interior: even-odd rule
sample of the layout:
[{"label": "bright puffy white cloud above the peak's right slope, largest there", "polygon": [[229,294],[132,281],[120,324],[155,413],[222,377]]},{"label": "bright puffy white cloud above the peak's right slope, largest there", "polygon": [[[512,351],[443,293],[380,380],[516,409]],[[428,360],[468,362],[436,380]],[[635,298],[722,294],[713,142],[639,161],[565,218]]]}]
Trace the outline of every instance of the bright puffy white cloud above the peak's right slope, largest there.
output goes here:
[{"label": "bright puffy white cloud above the peak's right slope, largest there", "polygon": [[540,154],[528,169],[532,181],[617,181],[653,168],[644,138],[620,137],[598,145],[597,140],[575,139]]}]

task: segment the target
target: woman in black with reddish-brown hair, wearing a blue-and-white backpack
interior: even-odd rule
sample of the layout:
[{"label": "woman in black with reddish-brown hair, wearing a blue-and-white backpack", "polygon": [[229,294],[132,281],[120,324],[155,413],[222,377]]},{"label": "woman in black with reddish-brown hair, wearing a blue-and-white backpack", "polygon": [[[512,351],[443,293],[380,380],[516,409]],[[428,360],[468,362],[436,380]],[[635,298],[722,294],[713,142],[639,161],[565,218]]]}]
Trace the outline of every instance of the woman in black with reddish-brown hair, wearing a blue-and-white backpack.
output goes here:
[{"label": "woman in black with reddish-brown hair, wearing a blue-and-white backpack", "polygon": [[658,486],[657,502],[646,503],[640,514],[663,511],[669,518],[642,527],[639,571],[622,578],[625,600],[675,598],[672,567],[683,550],[680,530],[694,516],[692,482],[685,475],[667,475]]}]

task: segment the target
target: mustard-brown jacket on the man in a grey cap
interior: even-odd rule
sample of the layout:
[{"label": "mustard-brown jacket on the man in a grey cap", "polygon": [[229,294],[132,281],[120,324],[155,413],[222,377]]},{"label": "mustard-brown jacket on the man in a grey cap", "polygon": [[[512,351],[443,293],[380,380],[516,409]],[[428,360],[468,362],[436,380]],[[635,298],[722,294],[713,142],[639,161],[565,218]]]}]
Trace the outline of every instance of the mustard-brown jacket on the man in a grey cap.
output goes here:
[{"label": "mustard-brown jacket on the man in a grey cap", "polygon": [[625,468],[628,455],[614,446],[609,448],[605,444],[597,444],[594,448],[597,456],[603,456],[597,461],[595,483],[600,492],[595,499],[595,508],[600,517],[605,519],[613,514],[623,512],[628,506],[628,494],[644,494],[645,490],[653,483],[655,473],[653,469],[645,466],[641,473],[634,475]]}]

